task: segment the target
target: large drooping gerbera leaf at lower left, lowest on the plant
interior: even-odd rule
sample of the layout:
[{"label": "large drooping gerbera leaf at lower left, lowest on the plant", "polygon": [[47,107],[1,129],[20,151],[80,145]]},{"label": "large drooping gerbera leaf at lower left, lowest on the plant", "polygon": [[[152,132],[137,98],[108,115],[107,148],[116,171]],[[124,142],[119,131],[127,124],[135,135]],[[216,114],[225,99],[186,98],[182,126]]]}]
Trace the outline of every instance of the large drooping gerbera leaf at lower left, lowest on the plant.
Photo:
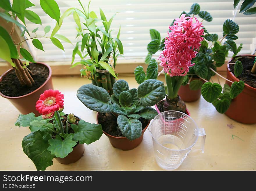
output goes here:
[{"label": "large drooping gerbera leaf at lower left, lowest on the plant", "polygon": [[53,165],[54,156],[47,150],[50,146],[48,143],[50,138],[44,132],[34,131],[22,140],[22,149],[33,161],[37,170],[45,170],[46,167]]}]

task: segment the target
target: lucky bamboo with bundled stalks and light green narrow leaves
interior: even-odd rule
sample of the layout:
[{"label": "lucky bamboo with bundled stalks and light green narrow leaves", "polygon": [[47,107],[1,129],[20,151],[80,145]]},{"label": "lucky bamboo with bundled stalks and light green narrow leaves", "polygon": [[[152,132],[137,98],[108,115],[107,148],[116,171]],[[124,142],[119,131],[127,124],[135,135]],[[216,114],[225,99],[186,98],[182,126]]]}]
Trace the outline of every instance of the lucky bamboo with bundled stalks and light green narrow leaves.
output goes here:
[{"label": "lucky bamboo with bundled stalks and light green narrow leaves", "polygon": [[[99,9],[99,19],[94,11],[89,11],[90,1],[87,8],[82,5],[80,0],[78,1],[82,10],[73,8],[72,12],[77,24],[76,38],[81,37],[81,40],[73,49],[71,68],[81,64],[81,76],[91,79],[93,85],[104,88],[112,95],[112,87],[117,78],[114,69],[118,56],[123,54],[122,42],[119,39],[120,27],[116,38],[113,38],[111,23],[115,14],[108,21],[103,10]],[[80,17],[83,20],[80,20]],[[96,25],[97,22],[102,22],[103,26]],[[76,55],[81,60],[74,63]]]}]

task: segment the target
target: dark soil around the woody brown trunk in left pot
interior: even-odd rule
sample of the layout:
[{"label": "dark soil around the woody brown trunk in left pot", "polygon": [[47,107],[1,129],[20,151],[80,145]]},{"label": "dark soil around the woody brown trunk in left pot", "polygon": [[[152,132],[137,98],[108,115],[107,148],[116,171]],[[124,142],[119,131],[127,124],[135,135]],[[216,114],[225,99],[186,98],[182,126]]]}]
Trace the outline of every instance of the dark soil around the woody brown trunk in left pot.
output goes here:
[{"label": "dark soil around the woody brown trunk in left pot", "polygon": [[32,72],[32,78],[35,81],[32,87],[21,86],[13,69],[0,82],[0,92],[9,97],[26,95],[39,88],[49,76],[49,69],[45,65],[30,63],[28,68]]}]

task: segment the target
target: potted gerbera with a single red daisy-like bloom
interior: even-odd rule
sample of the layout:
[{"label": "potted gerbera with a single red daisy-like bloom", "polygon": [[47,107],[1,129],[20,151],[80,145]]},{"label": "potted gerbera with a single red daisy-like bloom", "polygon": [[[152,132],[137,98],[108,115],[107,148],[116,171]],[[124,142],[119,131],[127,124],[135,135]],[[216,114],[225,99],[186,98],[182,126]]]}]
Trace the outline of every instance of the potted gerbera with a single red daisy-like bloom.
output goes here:
[{"label": "potted gerbera with a single red daisy-like bloom", "polygon": [[15,122],[16,126],[29,126],[31,130],[23,138],[22,148],[37,170],[53,165],[53,158],[62,164],[76,162],[83,156],[83,144],[95,142],[102,135],[100,124],[91,124],[74,114],[63,113],[63,99],[64,95],[58,90],[46,90],[35,106],[42,115],[20,114]]}]

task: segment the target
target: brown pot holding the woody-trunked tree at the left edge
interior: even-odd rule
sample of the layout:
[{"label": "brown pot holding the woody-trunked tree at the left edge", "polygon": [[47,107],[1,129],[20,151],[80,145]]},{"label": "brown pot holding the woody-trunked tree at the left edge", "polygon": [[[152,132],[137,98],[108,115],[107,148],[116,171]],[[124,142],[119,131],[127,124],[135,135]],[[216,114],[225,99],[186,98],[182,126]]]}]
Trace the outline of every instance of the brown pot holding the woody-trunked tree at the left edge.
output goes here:
[{"label": "brown pot holding the woody-trunked tree at the left edge", "polygon": [[[38,111],[35,109],[35,103],[40,97],[40,94],[42,94],[45,90],[52,89],[53,90],[53,85],[51,81],[51,67],[44,64],[44,63],[37,63],[37,64],[42,64],[45,65],[49,69],[49,76],[47,77],[46,81],[36,90],[33,92],[30,92],[29,94],[18,96],[18,97],[9,97],[6,95],[3,95],[0,92],[0,95],[6,99],[8,99],[22,114],[28,114],[33,112],[35,116],[41,115],[38,113]],[[7,70],[1,77],[0,77],[0,82],[3,80],[3,77],[8,74],[12,69]]]}]

